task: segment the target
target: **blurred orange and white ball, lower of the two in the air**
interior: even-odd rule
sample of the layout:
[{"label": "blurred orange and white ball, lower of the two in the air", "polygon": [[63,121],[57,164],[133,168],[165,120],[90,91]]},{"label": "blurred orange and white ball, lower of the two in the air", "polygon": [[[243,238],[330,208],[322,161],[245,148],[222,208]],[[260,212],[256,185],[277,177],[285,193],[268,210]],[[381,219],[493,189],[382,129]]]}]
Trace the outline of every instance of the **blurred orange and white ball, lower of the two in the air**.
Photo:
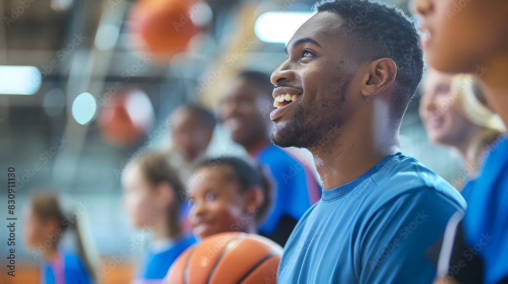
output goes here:
[{"label": "blurred orange and white ball, lower of the two in the air", "polygon": [[97,117],[103,136],[115,146],[130,146],[153,124],[154,111],[145,92],[126,90],[99,101],[104,105]]}]

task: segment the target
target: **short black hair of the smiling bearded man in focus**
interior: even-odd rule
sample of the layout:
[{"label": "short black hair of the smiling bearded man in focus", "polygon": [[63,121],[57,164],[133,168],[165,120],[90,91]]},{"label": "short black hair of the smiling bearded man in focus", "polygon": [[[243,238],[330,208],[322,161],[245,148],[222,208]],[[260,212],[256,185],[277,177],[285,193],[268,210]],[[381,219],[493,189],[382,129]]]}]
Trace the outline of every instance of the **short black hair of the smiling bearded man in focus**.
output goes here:
[{"label": "short black hair of the smiling bearded man in focus", "polygon": [[369,0],[319,1],[316,12],[339,15],[344,24],[344,43],[356,56],[376,60],[391,58],[397,65],[395,92],[390,106],[392,118],[401,119],[422,80],[424,54],[415,21],[394,6]]}]

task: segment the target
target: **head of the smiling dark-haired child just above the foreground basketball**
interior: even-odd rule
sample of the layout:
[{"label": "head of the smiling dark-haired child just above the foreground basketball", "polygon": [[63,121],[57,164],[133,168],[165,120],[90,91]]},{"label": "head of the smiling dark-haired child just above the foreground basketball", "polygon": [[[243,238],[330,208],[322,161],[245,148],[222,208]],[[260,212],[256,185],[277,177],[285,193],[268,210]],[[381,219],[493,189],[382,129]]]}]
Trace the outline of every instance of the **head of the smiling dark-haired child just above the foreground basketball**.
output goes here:
[{"label": "head of the smiling dark-haired child just above the foreground basketball", "polygon": [[271,185],[261,169],[235,157],[205,160],[187,184],[189,220],[196,236],[258,232],[271,201]]}]

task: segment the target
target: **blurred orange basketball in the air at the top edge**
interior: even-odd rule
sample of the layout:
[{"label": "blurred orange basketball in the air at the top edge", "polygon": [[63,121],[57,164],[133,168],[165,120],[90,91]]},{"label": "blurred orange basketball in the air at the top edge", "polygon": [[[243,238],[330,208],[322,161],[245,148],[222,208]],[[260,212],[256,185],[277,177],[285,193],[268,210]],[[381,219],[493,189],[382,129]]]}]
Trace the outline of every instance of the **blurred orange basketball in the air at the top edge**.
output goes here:
[{"label": "blurred orange basketball in the air at the top edge", "polygon": [[196,33],[196,9],[194,0],[138,1],[130,14],[131,30],[141,41],[135,43],[160,56],[184,51]]}]

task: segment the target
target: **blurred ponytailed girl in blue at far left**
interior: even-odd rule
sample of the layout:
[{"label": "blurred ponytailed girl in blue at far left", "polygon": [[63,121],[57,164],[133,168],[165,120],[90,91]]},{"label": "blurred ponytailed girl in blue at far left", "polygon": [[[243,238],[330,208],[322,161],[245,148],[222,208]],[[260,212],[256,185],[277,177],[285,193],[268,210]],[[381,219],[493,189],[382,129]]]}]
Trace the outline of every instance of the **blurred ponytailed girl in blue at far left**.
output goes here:
[{"label": "blurred ponytailed girl in blue at far left", "polygon": [[[83,237],[83,216],[65,215],[55,195],[35,196],[24,207],[23,237],[34,258],[42,259],[41,284],[88,284],[95,280],[97,260]],[[74,230],[77,253],[60,250],[67,231]],[[86,243],[86,245],[85,245]]]}]

